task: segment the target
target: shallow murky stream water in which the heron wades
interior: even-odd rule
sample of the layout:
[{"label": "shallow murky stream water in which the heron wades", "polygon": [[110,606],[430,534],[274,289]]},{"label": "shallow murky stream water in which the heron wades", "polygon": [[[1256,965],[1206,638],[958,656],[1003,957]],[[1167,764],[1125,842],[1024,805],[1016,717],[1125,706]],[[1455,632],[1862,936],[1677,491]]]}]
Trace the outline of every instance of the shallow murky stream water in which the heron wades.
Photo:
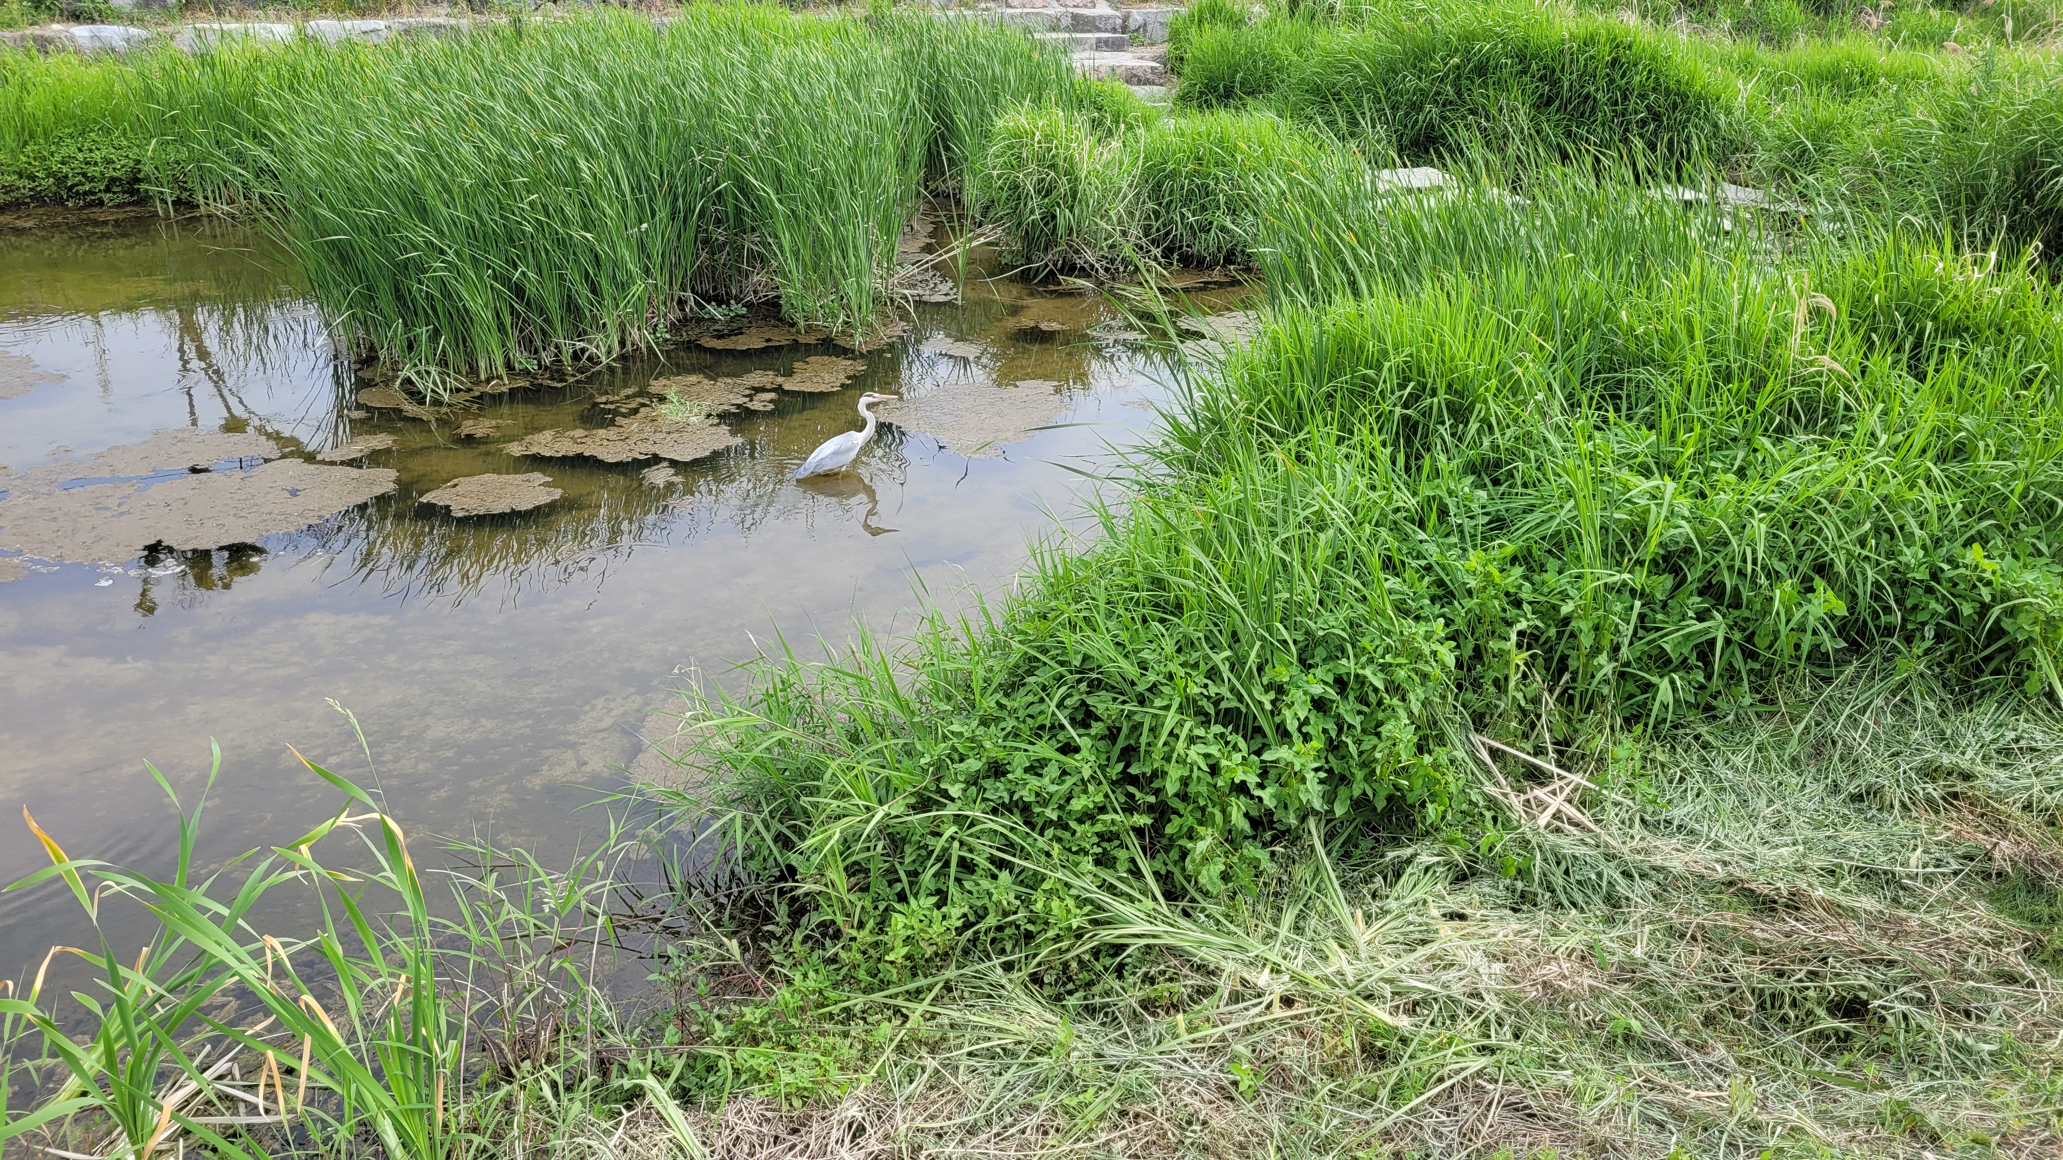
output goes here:
[{"label": "shallow murky stream water in which the heron wades", "polygon": [[[291,272],[231,227],[0,227],[0,533],[29,510],[31,479],[111,479],[91,456],[163,429],[248,433],[309,464],[351,446],[351,469],[394,473],[384,495],[252,545],[105,563],[0,551],[0,832],[27,805],[74,857],[165,869],[175,830],[142,764],[192,791],[212,737],[223,778],[204,855],[285,840],[334,807],[289,743],[365,776],[334,700],[417,832],[569,846],[600,828],[578,809],[637,760],[648,714],[691,671],[722,677],[776,632],[893,632],[918,588],[1007,580],[1085,487],[1071,469],[1093,471],[1106,444],[1151,423],[1159,363],[1110,339],[1118,326],[1095,299],[970,283],[963,303],[918,308],[910,334],[866,355],[687,347],[425,419],[363,411],[375,384],[355,378]],[[712,458],[503,450],[604,427],[621,407],[598,400],[654,376],[788,376],[825,355],[864,369],[831,392],[753,396],[769,409],[722,415],[736,444]],[[860,471],[798,485],[794,464],[858,425],[862,390],[904,402],[883,407]],[[182,464],[146,471],[159,475],[120,475],[107,493],[188,479]],[[543,473],[561,495],[470,518],[419,504],[485,473]],[[0,840],[0,879],[41,865],[23,830]],[[76,927],[62,890],[0,896],[0,974]]]}]

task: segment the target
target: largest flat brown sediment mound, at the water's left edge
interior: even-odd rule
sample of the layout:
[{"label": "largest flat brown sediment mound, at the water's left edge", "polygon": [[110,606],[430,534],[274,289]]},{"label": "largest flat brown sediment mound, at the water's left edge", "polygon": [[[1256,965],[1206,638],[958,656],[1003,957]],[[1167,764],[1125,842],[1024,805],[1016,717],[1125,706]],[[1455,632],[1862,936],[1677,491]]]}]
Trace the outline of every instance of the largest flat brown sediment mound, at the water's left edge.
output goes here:
[{"label": "largest flat brown sediment mound, at the water's left edge", "polygon": [[[297,458],[208,471],[274,454],[279,446],[264,436],[182,429],[25,471],[0,500],[0,549],[68,563],[124,563],[157,543],[215,549],[295,533],[394,489],[394,473],[386,469]],[[165,475],[182,469],[186,475]]]}]

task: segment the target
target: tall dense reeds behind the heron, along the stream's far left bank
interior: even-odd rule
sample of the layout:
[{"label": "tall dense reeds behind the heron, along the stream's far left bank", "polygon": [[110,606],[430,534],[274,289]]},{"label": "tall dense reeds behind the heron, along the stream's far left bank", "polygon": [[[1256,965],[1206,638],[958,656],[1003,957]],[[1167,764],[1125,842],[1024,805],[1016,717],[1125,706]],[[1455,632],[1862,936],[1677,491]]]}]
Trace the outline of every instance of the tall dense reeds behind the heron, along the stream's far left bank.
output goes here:
[{"label": "tall dense reeds behind the heron, along the stream's far left bank", "polygon": [[749,4],[62,68],[23,66],[52,95],[10,132],[85,118],[149,142],[161,196],[270,223],[425,386],[609,359],[708,297],[866,328],[916,200],[957,186],[1005,107],[1077,99],[1013,29]]}]

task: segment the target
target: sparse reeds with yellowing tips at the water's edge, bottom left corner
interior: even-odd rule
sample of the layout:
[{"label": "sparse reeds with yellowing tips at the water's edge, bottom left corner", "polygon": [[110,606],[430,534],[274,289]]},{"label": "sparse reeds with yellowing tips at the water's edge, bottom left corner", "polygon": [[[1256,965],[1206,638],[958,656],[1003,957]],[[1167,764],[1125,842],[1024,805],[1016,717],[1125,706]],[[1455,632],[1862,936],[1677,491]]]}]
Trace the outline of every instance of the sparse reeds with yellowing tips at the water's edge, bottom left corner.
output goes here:
[{"label": "sparse reeds with yellowing tips at the water's edge, bottom left corner", "polygon": [[[607,937],[623,842],[611,836],[559,873],[520,850],[462,846],[481,865],[429,871],[452,883],[439,914],[386,805],[303,764],[345,795],[342,809],[256,865],[243,865],[252,850],[208,877],[196,861],[204,803],[179,815],[169,879],[70,857],[25,813],[52,867],[8,890],[60,879],[101,937],[97,947],[52,947],[33,985],[0,999],[0,1096],[50,1067],[64,1075],[37,1106],[10,1115],[0,1139],[62,1133],[70,1148],[111,1158],[184,1150],[186,1137],[243,1158],[334,1152],[355,1137],[396,1160],[491,1154],[534,1129],[534,1117],[505,1110],[483,1119],[499,1106],[499,1086],[543,1059],[580,1057],[567,1051],[576,1034],[615,1038],[586,960]],[[202,799],[212,786],[210,772]],[[316,852],[338,832],[357,834],[369,863],[345,873]],[[314,894],[314,937],[262,933],[262,912],[295,888]],[[134,962],[105,935],[103,910],[116,906],[140,906],[157,923]],[[43,995],[60,954],[101,974],[72,993],[80,1011],[64,1016]],[[78,1024],[93,1030],[83,1044],[68,1034]],[[31,1040],[41,1061],[25,1051]],[[586,1080],[574,1075],[582,1067],[557,1080],[592,1086],[586,1065]]]}]

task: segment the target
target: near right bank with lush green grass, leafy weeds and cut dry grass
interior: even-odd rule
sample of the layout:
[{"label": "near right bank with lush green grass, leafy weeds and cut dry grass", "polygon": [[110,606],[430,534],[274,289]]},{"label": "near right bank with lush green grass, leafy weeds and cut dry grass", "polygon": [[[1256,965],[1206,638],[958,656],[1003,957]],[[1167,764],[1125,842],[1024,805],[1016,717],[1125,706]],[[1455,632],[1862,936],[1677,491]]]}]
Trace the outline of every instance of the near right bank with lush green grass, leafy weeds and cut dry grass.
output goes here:
[{"label": "near right bank with lush green grass, leafy weeds and cut dry grass", "polygon": [[699,1003],[701,1084],[1112,1154],[2057,1143],[2063,295],[1529,198],[1324,221],[1353,295],[1102,543],[706,706],[683,809],[819,1011]]}]

